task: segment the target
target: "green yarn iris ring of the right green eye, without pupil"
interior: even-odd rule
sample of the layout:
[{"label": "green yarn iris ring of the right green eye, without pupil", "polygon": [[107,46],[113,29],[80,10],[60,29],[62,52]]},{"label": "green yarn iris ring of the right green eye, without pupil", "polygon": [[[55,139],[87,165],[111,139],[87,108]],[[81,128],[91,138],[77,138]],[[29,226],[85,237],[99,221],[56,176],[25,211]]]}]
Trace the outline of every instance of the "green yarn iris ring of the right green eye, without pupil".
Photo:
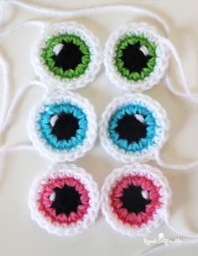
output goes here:
[{"label": "green yarn iris ring of the right green eye, without pupil", "polygon": [[[147,66],[143,67],[141,72],[131,72],[128,68],[124,67],[124,62],[122,61],[122,51],[128,47],[128,45],[134,45],[140,43],[141,46],[146,46],[148,49],[148,55],[151,58],[148,60]],[[145,35],[126,35],[122,40],[117,43],[115,51],[115,66],[117,67],[117,72],[119,72],[122,77],[126,77],[128,80],[133,80],[137,82],[138,80],[143,80],[148,77],[151,72],[154,71],[156,65],[156,48],[157,45],[149,42]]]}]

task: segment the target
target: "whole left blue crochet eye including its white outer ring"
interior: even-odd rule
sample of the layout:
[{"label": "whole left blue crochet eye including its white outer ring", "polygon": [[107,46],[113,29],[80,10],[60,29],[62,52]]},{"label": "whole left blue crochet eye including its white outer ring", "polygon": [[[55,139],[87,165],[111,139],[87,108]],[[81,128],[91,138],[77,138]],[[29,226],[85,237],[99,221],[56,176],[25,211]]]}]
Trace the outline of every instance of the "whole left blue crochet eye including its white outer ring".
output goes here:
[{"label": "whole left blue crochet eye including its white outer ring", "polygon": [[29,118],[29,137],[44,156],[74,161],[96,141],[96,115],[87,99],[61,92],[44,99]]}]

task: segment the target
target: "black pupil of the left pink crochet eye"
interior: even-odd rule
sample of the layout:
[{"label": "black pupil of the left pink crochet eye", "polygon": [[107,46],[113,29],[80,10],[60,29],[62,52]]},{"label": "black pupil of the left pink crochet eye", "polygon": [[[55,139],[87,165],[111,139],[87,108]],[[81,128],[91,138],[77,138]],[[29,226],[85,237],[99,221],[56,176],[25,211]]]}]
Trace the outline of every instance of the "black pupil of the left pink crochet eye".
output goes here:
[{"label": "black pupil of the left pink crochet eye", "polygon": [[63,188],[55,188],[55,200],[51,204],[51,208],[55,209],[56,216],[65,213],[69,216],[71,212],[77,212],[77,208],[81,203],[81,194],[76,191],[75,187],[65,184]]}]

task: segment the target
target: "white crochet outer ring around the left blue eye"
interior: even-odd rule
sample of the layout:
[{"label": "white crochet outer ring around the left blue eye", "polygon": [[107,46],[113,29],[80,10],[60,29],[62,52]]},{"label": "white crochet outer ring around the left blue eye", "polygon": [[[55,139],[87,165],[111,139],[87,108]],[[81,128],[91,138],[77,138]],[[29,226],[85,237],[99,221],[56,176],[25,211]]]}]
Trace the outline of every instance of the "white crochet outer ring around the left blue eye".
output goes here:
[{"label": "white crochet outer ring around the left blue eye", "polygon": [[[83,144],[72,148],[69,152],[66,150],[59,151],[57,149],[52,149],[46,143],[46,141],[41,138],[39,133],[39,125],[37,124],[39,114],[45,110],[45,104],[58,104],[63,100],[80,107],[85,113],[87,119],[86,138],[84,139]],[[96,141],[97,124],[95,110],[88,99],[81,97],[80,94],[71,93],[68,91],[62,92],[58,90],[56,93],[46,96],[46,98],[40,104],[32,109],[29,115],[28,131],[29,138],[32,141],[33,146],[42,156],[48,157],[54,162],[75,161],[77,158],[83,157],[87,151],[91,150]]]}]

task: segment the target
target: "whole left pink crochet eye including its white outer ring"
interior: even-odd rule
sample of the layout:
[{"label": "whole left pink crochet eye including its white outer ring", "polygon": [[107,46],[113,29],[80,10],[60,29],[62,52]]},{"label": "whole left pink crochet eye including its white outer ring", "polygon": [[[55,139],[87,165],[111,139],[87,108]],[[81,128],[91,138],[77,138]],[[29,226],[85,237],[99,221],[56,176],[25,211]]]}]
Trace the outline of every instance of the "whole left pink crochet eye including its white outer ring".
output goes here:
[{"label": "whole left pink crochet eye including its white outer ring", "polygon": [[29,208],[39,227],[59,236],[72,236],[96,220],[99,190],[82,168],[73,164],[56,165],[34,179]]}]

